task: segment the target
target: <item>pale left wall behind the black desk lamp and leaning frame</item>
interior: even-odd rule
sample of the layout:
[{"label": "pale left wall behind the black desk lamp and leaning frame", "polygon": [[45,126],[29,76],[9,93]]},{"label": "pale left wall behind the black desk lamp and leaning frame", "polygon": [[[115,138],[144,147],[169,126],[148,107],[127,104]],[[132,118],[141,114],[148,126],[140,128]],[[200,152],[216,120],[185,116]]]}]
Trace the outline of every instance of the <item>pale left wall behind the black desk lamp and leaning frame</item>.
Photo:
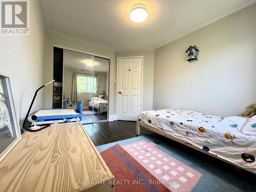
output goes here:
[{"label": "pale left wall behind the black desk lamp and leaning frame", "polygon": [[[40,3],[30,1],[30,35],[0,36],[0,73],[10,77],[18,123],[22,124],[34,92],[45,83],[45,28]],[[32,112],[44,108],[40,90]]]}]

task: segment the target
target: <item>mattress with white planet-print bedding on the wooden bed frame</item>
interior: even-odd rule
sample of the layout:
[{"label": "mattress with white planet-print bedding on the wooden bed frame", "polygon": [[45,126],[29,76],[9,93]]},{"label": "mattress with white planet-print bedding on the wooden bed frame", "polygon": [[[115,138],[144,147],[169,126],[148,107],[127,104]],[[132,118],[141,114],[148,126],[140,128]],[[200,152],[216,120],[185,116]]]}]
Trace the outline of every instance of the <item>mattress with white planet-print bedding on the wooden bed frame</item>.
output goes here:
[{"label": "mattress with white planet-print bedding on the wooden bed frame", "polygon": [[144,111],[138,120],[256,173],[256,133],[244,133],[248,118],[186,110]]}]

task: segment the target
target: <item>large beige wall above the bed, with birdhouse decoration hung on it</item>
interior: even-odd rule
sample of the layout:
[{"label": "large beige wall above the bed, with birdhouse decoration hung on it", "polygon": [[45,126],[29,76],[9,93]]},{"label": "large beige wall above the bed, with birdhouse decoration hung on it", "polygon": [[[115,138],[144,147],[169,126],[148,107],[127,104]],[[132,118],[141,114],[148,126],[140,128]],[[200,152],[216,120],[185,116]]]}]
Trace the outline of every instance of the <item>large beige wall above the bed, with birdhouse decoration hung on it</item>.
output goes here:
[{"label": "large beige wall above the bed, with birdhouse decoration hung on it", "polygon": [[[155,50],[154,109],[220,116],[256,102],[256,4]],[[197,45],[199,60],[186,61]]]}]

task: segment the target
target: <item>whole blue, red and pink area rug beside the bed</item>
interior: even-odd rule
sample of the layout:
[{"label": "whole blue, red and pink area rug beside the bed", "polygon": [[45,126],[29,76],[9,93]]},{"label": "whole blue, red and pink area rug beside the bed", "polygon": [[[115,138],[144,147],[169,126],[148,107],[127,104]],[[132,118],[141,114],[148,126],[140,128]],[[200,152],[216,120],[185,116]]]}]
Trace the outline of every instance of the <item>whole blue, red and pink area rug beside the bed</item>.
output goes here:
[{"label": "whole blue, red and pink area rug beside the bed", "polygon": [[[256,191],[255,186],[204,159],[150,136],[108,143],[97,149],[115,176],[115,191]],[[142,182],[137,183],[141,177]]]}]

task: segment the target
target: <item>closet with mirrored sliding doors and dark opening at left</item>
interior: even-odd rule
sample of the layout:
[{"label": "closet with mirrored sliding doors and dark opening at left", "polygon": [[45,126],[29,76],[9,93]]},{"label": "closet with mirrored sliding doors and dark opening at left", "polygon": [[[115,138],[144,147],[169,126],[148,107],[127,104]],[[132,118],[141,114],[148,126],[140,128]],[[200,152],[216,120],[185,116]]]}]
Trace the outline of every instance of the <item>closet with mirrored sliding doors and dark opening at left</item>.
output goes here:
[{"label": "closet with mirrored sliding doors and dark opening at left", "polygon": [[[108,120],[110,60],[66,49],[54,49],[60,53],[62,50],[63,72],[62,77],[56,75],[54,77],[59,79],[59,82],[54,82],[53,85],[53,103],[58,100],[58,103],[61,101],[61,108],[76,108],[77,103],[83,101],[81,121],[83,124]],[[57,55],[59,58],[61,58],[60,53]],[[57,56],[54,54],[55,60]],[[54,62],[54,65],[61,65],[61,61]],[[54,67],[58,70],[60,68],[61,66]],[[57,98],[56,96],[59,95],[61,97]]]}]

